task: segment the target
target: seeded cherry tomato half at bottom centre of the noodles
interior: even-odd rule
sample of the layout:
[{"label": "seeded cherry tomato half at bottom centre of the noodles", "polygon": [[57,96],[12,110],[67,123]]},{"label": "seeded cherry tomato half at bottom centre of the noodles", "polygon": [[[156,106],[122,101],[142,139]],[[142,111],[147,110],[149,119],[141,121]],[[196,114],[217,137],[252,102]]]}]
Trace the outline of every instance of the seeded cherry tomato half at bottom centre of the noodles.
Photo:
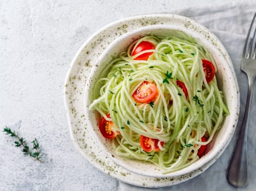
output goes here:
[{"label": "seeded cherry tomato half at bottom centre of the noodles", "polygon": [[[152,150],[155,152],[160,151],[160,148],[158,147],[158,142],[158,139],[151,139],[144,135],[140,136],[140,146],[146,152],[151,152]],[[163,143],[163,141],[160,142],[161,146],[163,146]]]}]

